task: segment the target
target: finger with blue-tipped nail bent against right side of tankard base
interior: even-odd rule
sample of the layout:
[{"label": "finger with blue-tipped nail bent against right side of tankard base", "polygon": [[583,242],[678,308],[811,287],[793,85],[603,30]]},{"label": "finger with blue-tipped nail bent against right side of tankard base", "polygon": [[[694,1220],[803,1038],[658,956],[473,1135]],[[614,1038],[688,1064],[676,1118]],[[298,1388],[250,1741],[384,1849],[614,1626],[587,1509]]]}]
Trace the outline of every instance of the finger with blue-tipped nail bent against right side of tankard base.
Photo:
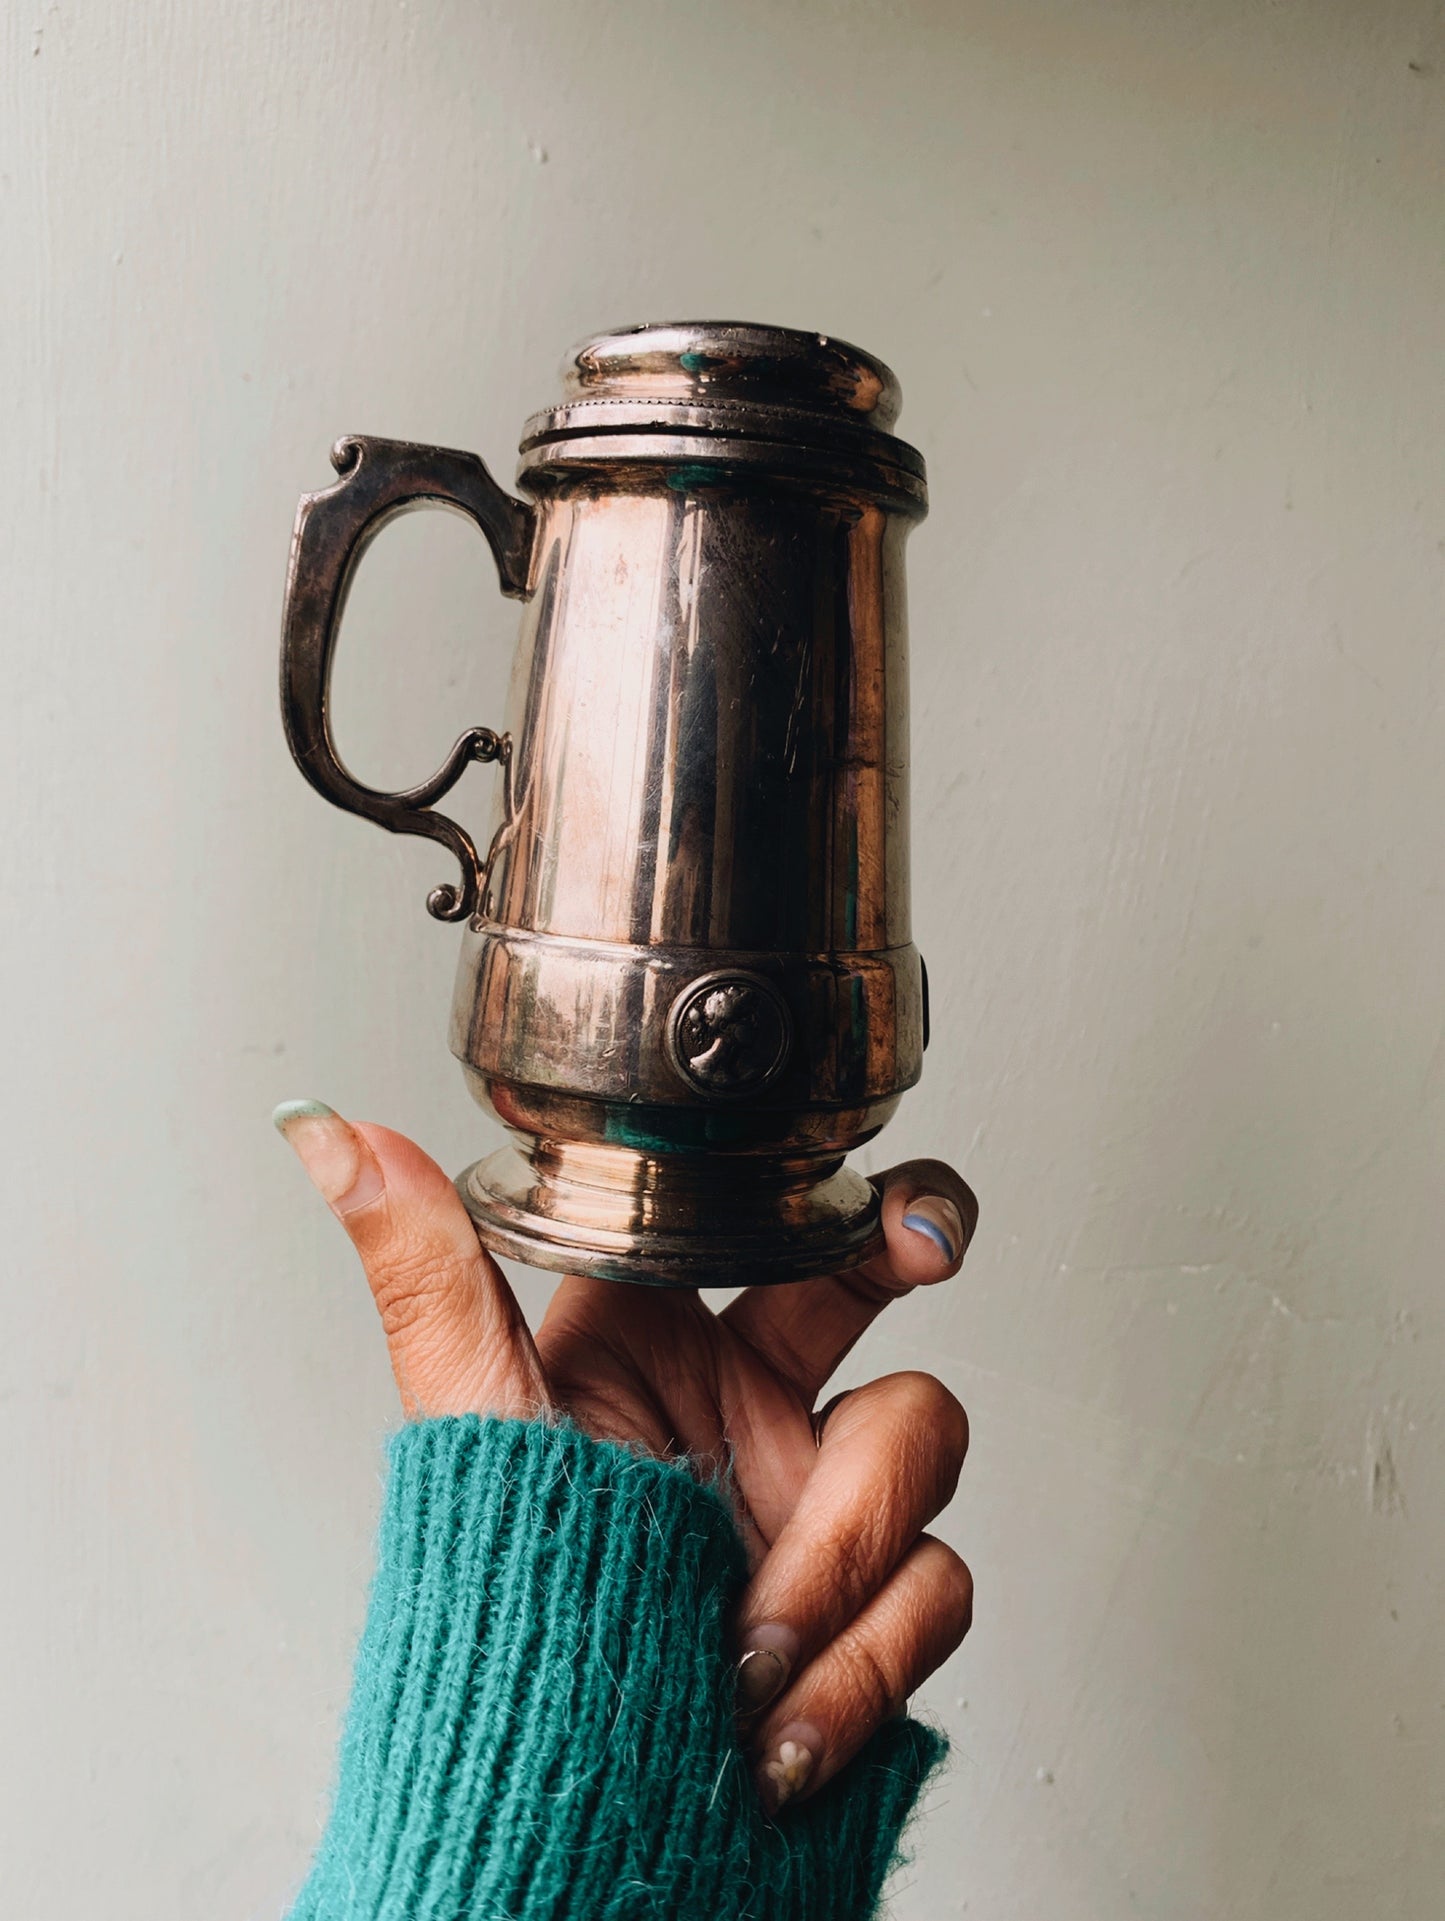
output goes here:
[{"label": "finger with blue-tipped nail bent against right side of tankard base", "polygon": [[978,1226],[968,1183],[942,1160],[907,1160],[878,1176],[884,1251],[847,1274],[794,1287],[749,1287],[722,1320],[805,1400],[890,1301],[959,1272]]}]

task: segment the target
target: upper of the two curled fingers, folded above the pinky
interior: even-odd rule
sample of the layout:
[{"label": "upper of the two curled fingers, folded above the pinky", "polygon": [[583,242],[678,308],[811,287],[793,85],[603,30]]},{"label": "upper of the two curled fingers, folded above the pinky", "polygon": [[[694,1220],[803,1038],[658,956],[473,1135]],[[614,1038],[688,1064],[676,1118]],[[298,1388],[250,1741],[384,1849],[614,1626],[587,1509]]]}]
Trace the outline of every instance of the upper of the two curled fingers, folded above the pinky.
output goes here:
[{"label": "upper of the two curled fingers, folded above the pinky", "polygon": [[738,1702],[757,1712],[882,1593],[953,1498],[968,1418],[930,1374],[855,1389],[736,1616]]}]

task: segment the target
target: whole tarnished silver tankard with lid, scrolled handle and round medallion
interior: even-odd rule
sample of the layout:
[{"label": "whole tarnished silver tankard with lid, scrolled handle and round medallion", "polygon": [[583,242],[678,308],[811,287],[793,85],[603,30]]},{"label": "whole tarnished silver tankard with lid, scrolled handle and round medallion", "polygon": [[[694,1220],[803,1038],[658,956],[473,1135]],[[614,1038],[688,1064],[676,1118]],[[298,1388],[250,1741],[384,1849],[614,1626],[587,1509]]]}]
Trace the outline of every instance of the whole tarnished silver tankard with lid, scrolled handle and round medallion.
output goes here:
[{"label": "whole tarnished silver tankard with lid, scrolled handle and round medallion", "polygon": [[[826,334],[688,321],[584,342],[505,494],[475,453],[336,442],[296,515],[281,695],[311,786],[459,861],[452,1051],[515,1145],[467,1168],[486,1247],[663,1285],[849,1268],[844,1166],[918,1080],[903,544],[922,457],[899,386]],[[342,765],[346,588],[398,513],[486,534],[525,603],[505,732],[419,788]],[[436,813],[502,770],[486,851]]]}]

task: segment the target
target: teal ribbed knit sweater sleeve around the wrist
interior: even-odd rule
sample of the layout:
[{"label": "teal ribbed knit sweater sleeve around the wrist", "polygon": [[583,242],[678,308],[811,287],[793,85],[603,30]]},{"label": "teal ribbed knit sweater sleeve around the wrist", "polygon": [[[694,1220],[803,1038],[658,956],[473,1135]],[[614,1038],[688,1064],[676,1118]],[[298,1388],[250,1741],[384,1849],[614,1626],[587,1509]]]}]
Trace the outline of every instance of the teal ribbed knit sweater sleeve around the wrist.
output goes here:
[{"label": "teal ribbed knit sweater sleeve around the wrist", "polygon": [[290,1921],[867,1921],[943,1740],[894,1721],[769,1821],[732,1723],[742,1581],[686,1466],[546,1422],[404,1427]]}]

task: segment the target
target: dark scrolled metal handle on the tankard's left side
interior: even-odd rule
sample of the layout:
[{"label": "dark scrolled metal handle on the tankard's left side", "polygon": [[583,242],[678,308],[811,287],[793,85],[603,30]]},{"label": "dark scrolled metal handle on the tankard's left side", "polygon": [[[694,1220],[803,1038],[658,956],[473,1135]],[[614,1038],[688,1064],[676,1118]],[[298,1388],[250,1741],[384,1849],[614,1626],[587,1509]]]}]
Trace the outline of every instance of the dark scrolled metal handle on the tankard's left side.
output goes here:
[{"label": "dark scrolled metal handle on the tankard's left side", "polygon": [[302,774],[334,807],[375,820],[390,834],[423,834],[450,847],[461,882],[432,888],[427,909],[438,920],[469,920],[482,905],[488,863],[465,828],[432,805],[450,793],[473,761],[500,761],[511,774],[511,740],[486,726],[467,728],[430,780],[384,793],[355,780],[331,734],[331,665],[355,565],[377,534],[415,507],[452,507],[473,519],[498,565],[502,592],[528,594],[534,509],[503,492],[475,453],[409,440],[348,434],[331,450],[334,486],[304,494],[296,509],[281,626],[281,715]]}]

